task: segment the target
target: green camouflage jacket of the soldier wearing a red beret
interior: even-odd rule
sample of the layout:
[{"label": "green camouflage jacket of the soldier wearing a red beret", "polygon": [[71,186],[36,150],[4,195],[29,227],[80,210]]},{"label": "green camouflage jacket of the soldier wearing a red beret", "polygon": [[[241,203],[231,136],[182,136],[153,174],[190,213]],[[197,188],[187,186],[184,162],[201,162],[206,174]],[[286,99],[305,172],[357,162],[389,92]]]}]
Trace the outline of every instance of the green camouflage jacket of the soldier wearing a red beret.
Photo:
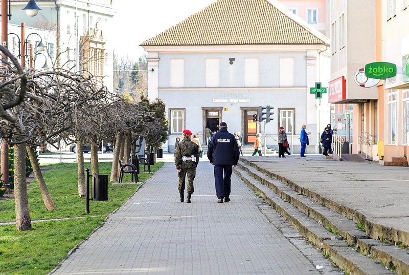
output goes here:
[{"label": "green camouflage jacket of the soldier wearing a red beret", "polygon": [[[195,156],[196,161],[182,161],[182,157],[186,156],[188,158]],[[199,146],[190,140],[189,137],[182,139],[175,148],[175,165],[176,169],[192,168],[196,167],[199,163]]]}]

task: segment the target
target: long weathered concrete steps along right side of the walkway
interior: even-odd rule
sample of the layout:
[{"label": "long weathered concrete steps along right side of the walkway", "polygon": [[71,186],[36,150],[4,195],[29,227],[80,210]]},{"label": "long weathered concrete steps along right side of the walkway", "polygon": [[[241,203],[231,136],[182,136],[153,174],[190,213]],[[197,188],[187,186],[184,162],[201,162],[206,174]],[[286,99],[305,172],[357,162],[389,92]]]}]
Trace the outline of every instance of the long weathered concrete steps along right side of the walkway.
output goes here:
[{"label": "long weathered concrete steps along right side of the walkway", "polygon": [[[324,206],[319,200],[303,196],[303,192],[294,188],[295,183],[289,184],[286,178],[271,173],[266,175],[257,164],[245,159],[240,160],[235,172],[300,234],[322,248],[324,255],[345,271],[351,274],[391,274],[384,265],[398,274],[409,274],[409,250],[370,239],[366,232],[357,229],[353,220]],[[367,231],[369,226],[372,224],[366,224]]]}]

